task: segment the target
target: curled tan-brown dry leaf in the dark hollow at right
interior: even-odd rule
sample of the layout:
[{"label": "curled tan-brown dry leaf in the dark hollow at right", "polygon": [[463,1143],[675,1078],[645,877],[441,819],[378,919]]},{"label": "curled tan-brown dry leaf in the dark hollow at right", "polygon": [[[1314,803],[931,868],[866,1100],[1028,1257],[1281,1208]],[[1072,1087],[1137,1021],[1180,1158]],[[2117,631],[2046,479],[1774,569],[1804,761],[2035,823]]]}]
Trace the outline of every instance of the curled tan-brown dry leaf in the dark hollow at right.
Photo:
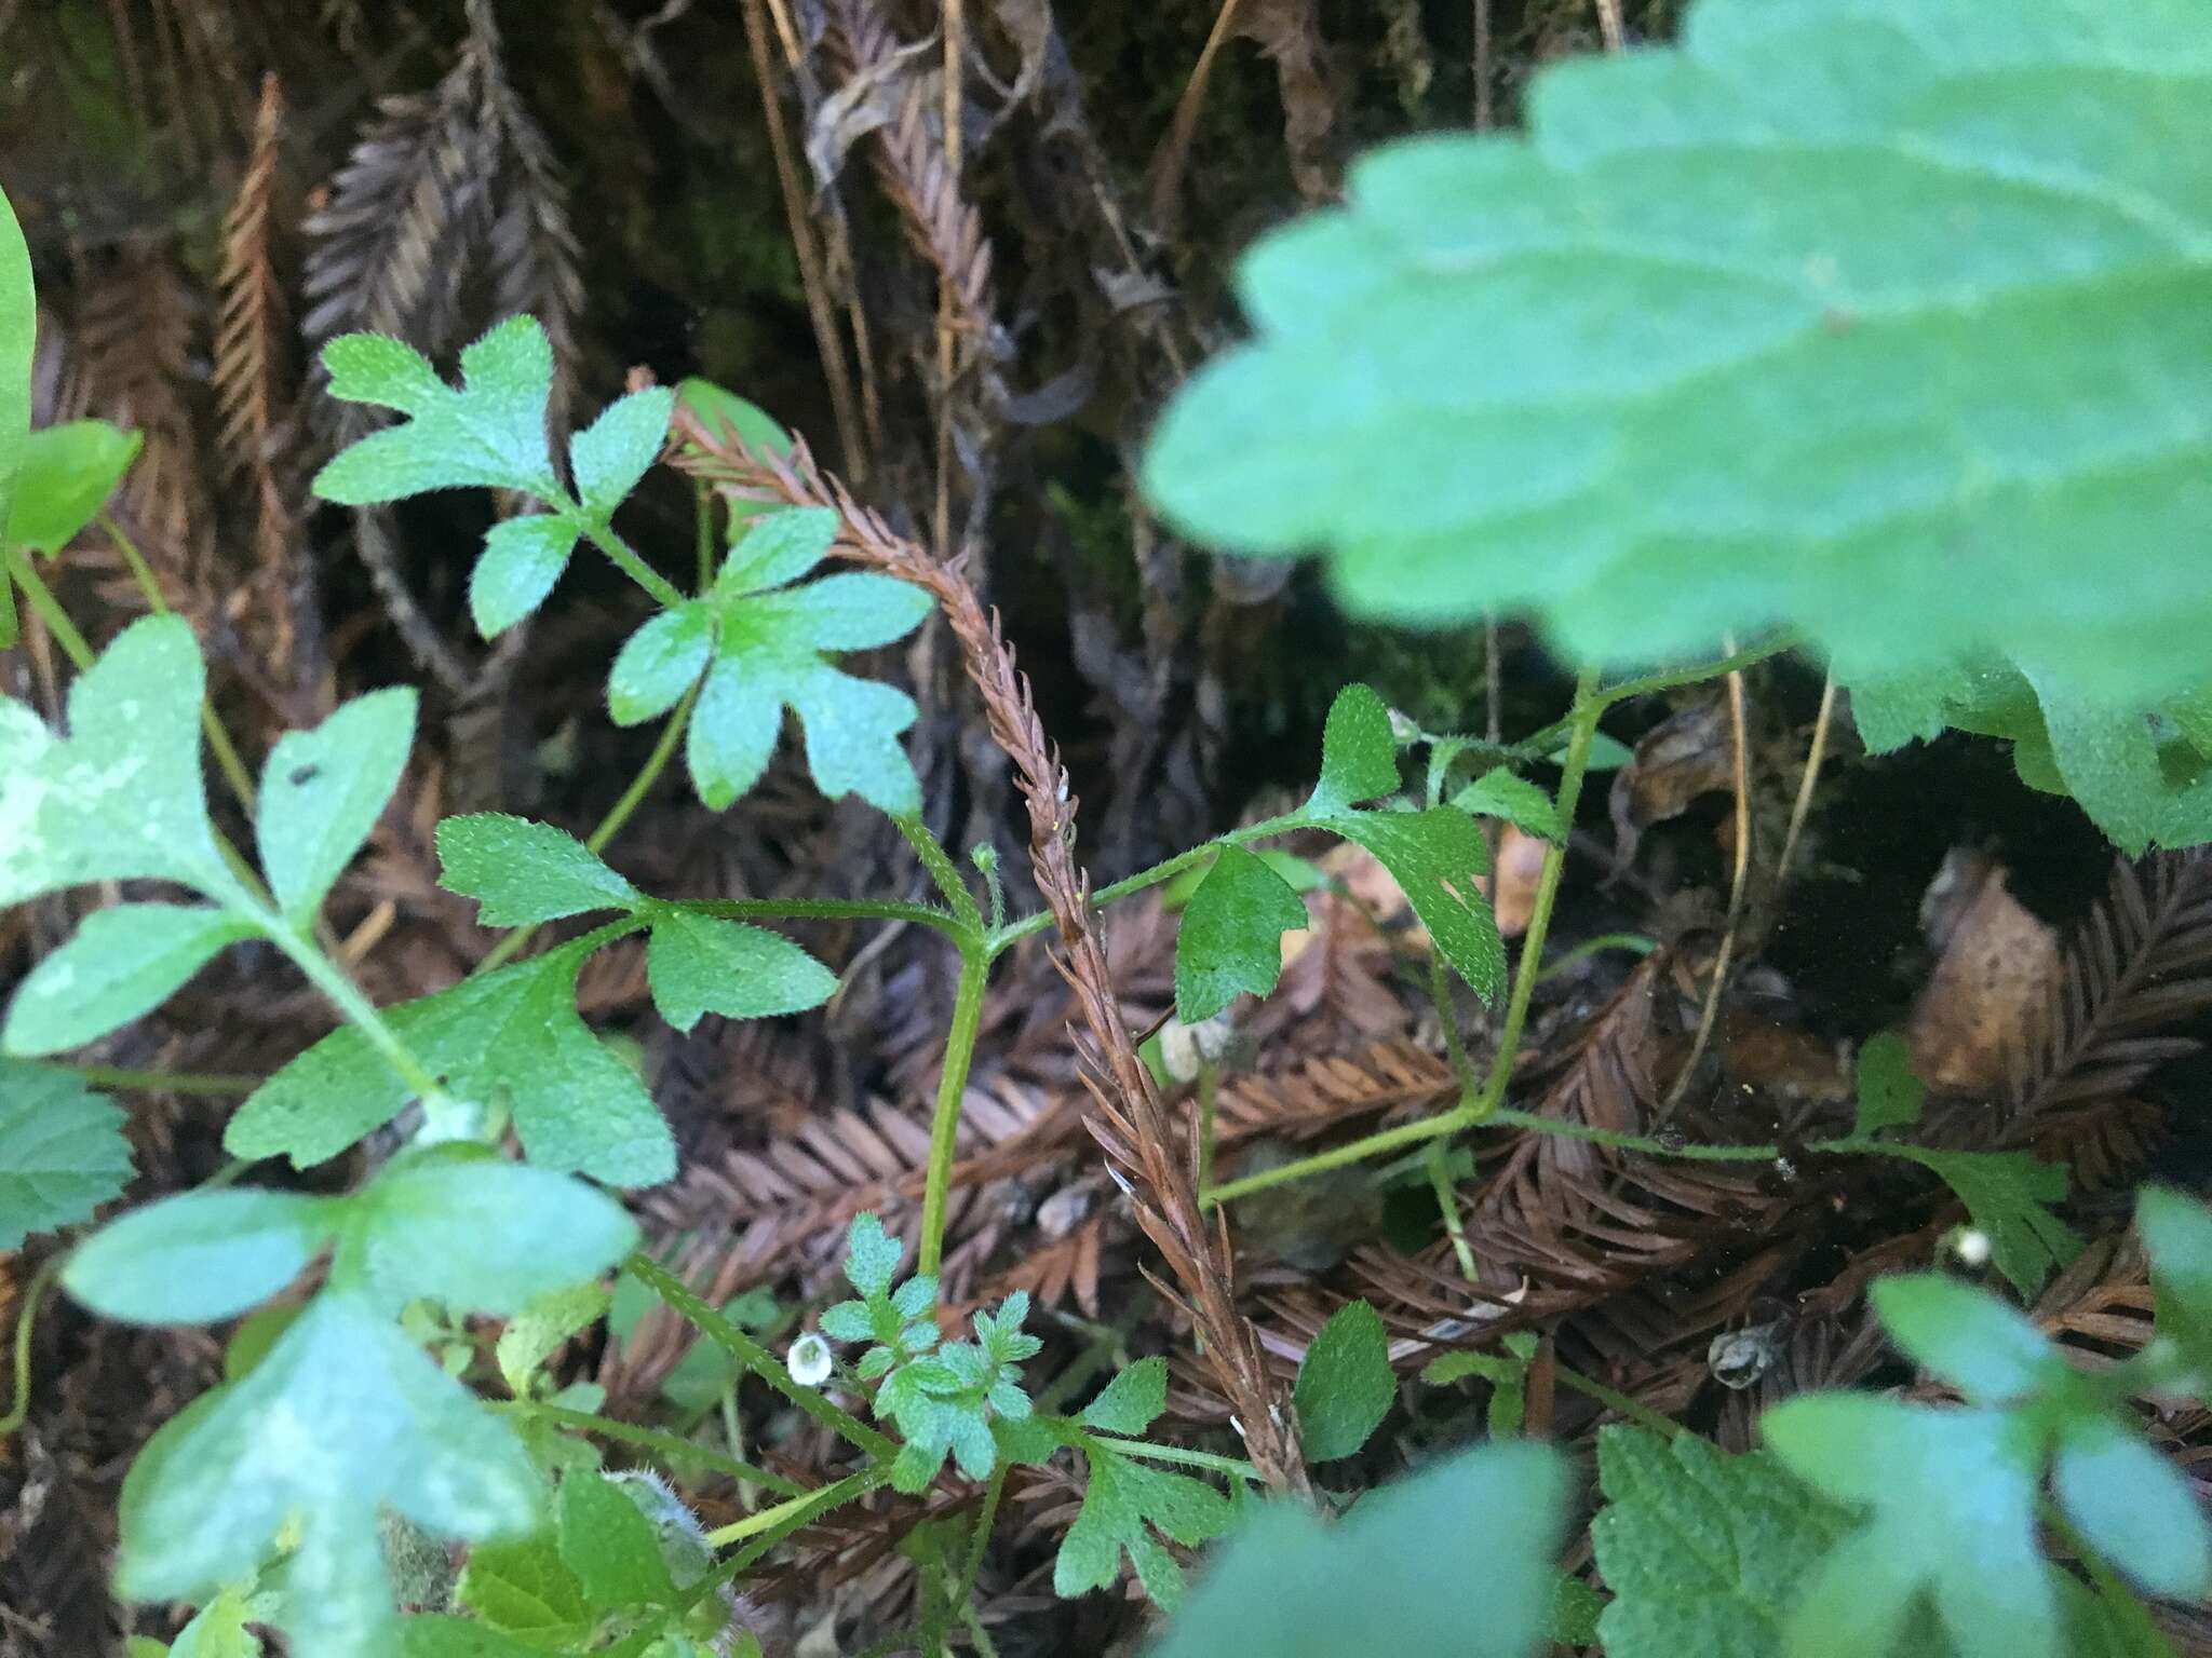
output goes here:
[{"label": "curled tan-brown dry leaf in the dark hollow at right", "polygon": [[1913,1072],[1940,1094],[2002,1090],[2059,975],[2057,937],[2004,880],[1991,858],[1955,849],[1920,902],[1938,959],[1907,1037]]}]

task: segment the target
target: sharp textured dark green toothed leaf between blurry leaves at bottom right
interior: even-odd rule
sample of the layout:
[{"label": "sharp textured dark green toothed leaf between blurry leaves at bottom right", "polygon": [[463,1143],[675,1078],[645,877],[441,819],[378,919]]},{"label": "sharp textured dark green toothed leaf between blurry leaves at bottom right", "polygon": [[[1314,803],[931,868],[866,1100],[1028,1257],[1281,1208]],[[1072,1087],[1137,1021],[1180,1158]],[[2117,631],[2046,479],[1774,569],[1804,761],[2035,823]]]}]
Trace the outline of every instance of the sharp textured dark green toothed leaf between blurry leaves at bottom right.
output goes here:
[{"label": "sharp textured dark green toothed leaf between blurry leaves at bottom right", "polygon": [[1694,1433],[1604,1428],[1597,1475],[1608,1658],[1774,1658],[1798,1589],[1851,1530],[1774,1457],[1728,1457]]}]

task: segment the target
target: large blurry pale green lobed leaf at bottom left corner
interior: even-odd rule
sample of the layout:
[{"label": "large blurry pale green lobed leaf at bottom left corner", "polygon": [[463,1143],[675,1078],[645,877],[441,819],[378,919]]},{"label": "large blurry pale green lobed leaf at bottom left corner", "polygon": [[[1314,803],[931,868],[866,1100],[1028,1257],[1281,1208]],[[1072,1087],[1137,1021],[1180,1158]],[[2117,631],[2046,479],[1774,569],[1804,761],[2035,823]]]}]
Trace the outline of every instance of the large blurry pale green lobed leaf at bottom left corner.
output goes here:
[{"label": "large blurry pale green lobed leaf at bottom left corner", "polygon": [[243,1382],[219,1386],[139,1452],[122,1494],[115,1587],[197,1601],[283,1541],[292,1651],[389,1651],[376,1514],[440,1536],[526,1532],[542,1488],[515,1435],[392,1324],[323,1293]]}]

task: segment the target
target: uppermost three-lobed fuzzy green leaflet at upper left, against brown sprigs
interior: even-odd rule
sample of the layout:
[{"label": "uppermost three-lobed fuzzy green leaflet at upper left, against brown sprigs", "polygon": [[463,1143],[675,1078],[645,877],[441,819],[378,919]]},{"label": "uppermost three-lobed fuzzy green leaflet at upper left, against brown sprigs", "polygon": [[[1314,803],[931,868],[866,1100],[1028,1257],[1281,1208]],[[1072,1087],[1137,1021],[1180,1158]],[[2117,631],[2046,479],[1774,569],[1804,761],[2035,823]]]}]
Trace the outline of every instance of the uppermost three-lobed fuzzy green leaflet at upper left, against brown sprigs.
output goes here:
[{"label": "uppermost three-lobed fuzzy green leaflet at upper left, against brown sprigs", "polygon": [[341,334],[323,347],[330,396],[407,420],[338,451],[314,493],[343,506],[398,502],[434,489],[511,489],[560,500],[546,449],[553,347],[531,316],[511,316],[460,354],[462,385],[380,334]]}]

